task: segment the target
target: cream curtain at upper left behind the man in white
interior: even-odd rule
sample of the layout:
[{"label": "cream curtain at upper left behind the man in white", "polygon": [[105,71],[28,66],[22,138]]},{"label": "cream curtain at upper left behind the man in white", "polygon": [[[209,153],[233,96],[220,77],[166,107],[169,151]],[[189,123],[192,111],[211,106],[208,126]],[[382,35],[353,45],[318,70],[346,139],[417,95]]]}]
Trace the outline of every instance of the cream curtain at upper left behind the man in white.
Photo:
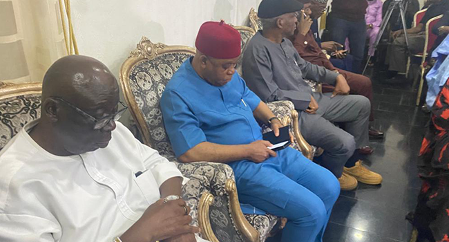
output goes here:
[{"label": "cream curtain at upper left behind the man in white", "polygon": [[41,82],[64,41],[58,0],[0,0],[1,82]]}]

